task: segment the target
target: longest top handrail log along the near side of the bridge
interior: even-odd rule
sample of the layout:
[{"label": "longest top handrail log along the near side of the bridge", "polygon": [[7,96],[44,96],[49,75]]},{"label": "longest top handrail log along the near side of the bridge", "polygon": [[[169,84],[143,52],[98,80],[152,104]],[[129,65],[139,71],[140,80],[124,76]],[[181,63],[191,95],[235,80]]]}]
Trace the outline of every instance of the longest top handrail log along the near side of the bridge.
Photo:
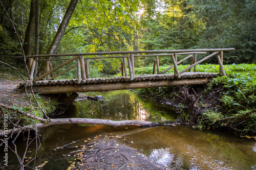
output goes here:
[{"label": "longest top handrail log along the near side of the bridge", "polygon": [[[142,53],[184,53],[184,52],[220,52],[220,51],[235,51],[235,48],[205,48],[205,49],[187,49],[187,50],[153,50],[153,51],[120,51],[120,52],[96,52],[96,53],[73,53],[73,54],[45,54],[25,56],[25,58],[35,57],[61,57],[61,56],[93,56],[93,55],[112,55],[112,54],[142,54]],[[24,58],[18,56],[14,58]]]}]

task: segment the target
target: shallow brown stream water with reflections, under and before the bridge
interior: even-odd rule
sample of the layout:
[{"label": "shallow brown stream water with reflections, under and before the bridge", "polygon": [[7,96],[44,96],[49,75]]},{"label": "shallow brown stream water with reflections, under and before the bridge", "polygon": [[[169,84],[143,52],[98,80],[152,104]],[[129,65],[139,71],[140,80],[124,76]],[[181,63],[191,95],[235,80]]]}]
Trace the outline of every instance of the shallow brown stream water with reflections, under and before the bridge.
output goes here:
[{"label": "shallow brown stream water with reflections, under and before the bridge", "polygon": [[[76,113],[72,117],[151,121],[176,119],[178,116],[172,107],[143,98],[129,90],[91,92],[87,95],[103,95],[104,98],[101,101],[75,103]],[[121,139],[125,138],[129,142],[123,141],[125,144],[171,169],[256,169],[256,140],[223,132],[198,131],[181,125],[149,128],[61,125],[44,128],[40,134],[44,150],[38,151],[36,165],[48,161],[44,169],[66,169],[69,161],[74,158],[62,155],[73,150],[54,149],[77,140],[72,145],[81,145],[83,140],[93,139],[96,135],[118,135]],[[24,153],[25,145],[26,140],[17,143],[20,154]],[[35,142],[31,142],[31,152],[27,157],[34,156],[35,145]],[[0,150],[2,162],[3,148]],[[9,167],[6,169],[14,169],[11,165],[18,164],[11,151],[8,161]]]}]

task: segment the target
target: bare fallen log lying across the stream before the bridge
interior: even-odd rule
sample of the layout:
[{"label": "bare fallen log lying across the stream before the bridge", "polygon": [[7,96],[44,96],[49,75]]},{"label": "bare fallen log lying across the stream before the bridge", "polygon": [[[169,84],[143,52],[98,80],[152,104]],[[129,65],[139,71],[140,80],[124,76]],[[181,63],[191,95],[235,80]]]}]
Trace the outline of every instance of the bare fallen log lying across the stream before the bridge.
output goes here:
[{"label": "bare fallen log lying across the stream before the bridge", "polygon": [[[45,119],[46,120],[46,119]],[[106,125],[113,127],[123,127],[123,126],[134,126],[134,127],[154,127],[164,124],[174,124],[175,120],[166,120],[160,123],[158,122],[143,122],[139,120],[108,120],[108,119],[98,119],[98,118],[51,118],[50,121],[44,123],[38,123],[33,125],[24,126],[22,128],[14,128],[9,130],[1,130],[0,138],[7,138],[12,134],[17,134],[19,131],[26,132],[29,130],[35,130],[38,128],[46,128],[53,125],[62,124],[89,124],[89,125]]]}]

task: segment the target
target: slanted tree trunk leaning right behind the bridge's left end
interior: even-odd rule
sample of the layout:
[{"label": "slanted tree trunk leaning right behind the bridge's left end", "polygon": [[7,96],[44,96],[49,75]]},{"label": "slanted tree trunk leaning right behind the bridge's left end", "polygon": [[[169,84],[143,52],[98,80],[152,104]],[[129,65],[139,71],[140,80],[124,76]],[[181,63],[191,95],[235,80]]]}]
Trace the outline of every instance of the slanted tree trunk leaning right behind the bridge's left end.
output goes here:
[{"label": "slanted tree trunk leaning right behind the bridge's left end", "polygon": [[[59,46],[59,43],[63,37],[63,35],[65,34],[65,30],[66,28],[68,27],[68,24],[69,24],[69,21],[71,19],[71,16],[75,10],[75,7],[76,7],[76,4],[77,4],[78,0],[71,0],[70,2],[70,5],[66,11],[66,14],[65,16],[63,17],[61,23],[60,23],[60,26],[57,30],[57,33],[49,47],[49,50],[47,52],[47,54],[55,54],[57,49],[58,49],[58,46]],[[46,57],[46,59],[50,59],[50,57]],[[46,72],[46,67],[47,67],[47,62],[46,61],[43,61],[41,63],[41,67],[40,69],[38,70],[38,74],[37,76],[40,76],[42,75],[44,72]]]}]

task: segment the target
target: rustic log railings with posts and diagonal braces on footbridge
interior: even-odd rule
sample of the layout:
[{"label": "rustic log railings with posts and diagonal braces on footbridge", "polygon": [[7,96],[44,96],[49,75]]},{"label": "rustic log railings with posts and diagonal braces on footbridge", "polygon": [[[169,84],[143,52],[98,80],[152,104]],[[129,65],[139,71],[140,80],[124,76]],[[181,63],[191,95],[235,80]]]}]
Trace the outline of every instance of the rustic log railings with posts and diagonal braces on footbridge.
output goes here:
[{"label": "rustic log railings with posts and diagonal braces on footbridge", "polygon": [[[127,59],[127,65],[129,68],[130,73],[130,80],[133,81],[135,77],[135,67],[134,67],[134,57],[156,57],[154,60],[154,67],[153,67],[153,74],[155,74],[155,69],[157,67],[157,74],[164,74],[167,70],[174,68],[174,75],[177,78],[181,78],[181,74],[185,71],[190,71],[191,68],[194,67],[194,71],[196,71],[196,65],[204,62],[205,60],[209,59],[212,56],[217,56],[220,70],[219,74],[226,76],[225,70],[223,68],[223,52],[225,51],[234,51],[234,48],[215,48],[215,49],[190,49],[190,50],[162,50],[162,51],[127,51],[127,52],[99,52],[99,53],[77,53],[77,54],[52,54],[52,55],[34,55],[34,56],[25,56],[25,58],[35,58],[35,57],[50,57],[49,60],[33,60],[30,64],[30,81],[36,82],[38,80],[41,80],[43,78],[46,78],[46,80],[53,80],[56,77],[60,76],[61,74],[67,72],[68,70],[77,67],[77,80],[78,83],[81,82],[81,80],[89,79],[89,60],[93,59],[106,59],[106,58],[122,58],[121,60],[121,70],[122,70],[122,76],[127,76],[127,70],[126,70],[126,59]],[[200,61],[197,61],[197,55],[198,54],[207,54],[207,52],[213,52],[212,54],[204,57]],[[151,54],[149,54],[151,53]],[[152,54],[153,53],[153,54]],[[128,55],[125,55],[128,54]],[[137,55],[134,55],[137,54]],[[147,54],[147,55],[139,55],[139,54]],[[105,57],[84,57],[84,56],[99,56],[99,55],[122,55],[122,56],[105,56]],[[180,61],[177,60],[178,55],[188,55],[187,57],[181,59]],[[69,59],[54,59],[55,57],[65,57],[65,56],[73,56]],[[173,65],[168,67],[167,69],[160,72],[159,69],[159,57],[161,56],[170,56],[172,57]],[[24,58],[24,57],[16,57],[16,58]],[[192,58],[191,63],[188,67],[186,67],[183,70],[178,69],[178,64],[182,63],[183,61]],[[63,62],[62,64],[52,68],[50,61],[57,61],[57,60],[67,60]],[[72,65],[71,67],[59,72],[57,75],[53,75],[53,72],[58,70],[59,68],[71,63],[72,61],[76,60],[77,63]],[[34,75],[34,69],[35,69],[35,63],[36,61],[47,61],[47,71],[42,74],[41,76],[33,79]],[[51,78],[50,78],[51,75]]]}]

